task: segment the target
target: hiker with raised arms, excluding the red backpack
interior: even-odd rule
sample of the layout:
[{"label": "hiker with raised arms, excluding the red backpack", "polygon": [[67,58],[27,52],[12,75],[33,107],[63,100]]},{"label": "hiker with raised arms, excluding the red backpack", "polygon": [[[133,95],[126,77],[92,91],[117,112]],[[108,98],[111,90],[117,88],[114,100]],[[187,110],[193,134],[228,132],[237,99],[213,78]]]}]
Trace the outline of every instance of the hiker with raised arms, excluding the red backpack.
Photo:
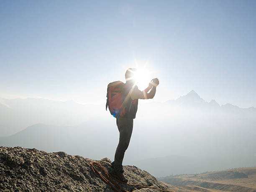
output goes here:
[{"label": "hiker with raised arms, excluding the red backpack", "polygon": [[[155,78],[149,82],[145,90],[139,90],[136,85],[136,79],[134,78],[136,70],[136,68],[129,68],[125,72],[126,83],[123,85],[123,94],[127,113],[124,117],[116,118],[116,125],[119,131],[119,143],[115,151],[115,160],[111,163],[113,168],[111,174],[122,182],[128,182],[123,175],[122,164],[125,151],[129,146],[133,132],[133,119],[136,118],[138,99],[152,99],[156,94],[156,87],[159,85],[159,79]],[[151,91],[149,92],[149,90]]]}]

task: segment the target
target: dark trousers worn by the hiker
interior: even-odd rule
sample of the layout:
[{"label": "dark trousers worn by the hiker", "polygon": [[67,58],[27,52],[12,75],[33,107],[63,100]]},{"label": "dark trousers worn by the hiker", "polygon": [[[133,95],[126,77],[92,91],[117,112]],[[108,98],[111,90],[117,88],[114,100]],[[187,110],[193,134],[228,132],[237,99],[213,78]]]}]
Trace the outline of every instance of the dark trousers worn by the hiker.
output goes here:
[{"label": "dark trousers worn by the hiker", "polygon": [[123,169],[123,157],[131,140],[131,135],[133,132],[133,119],[117,118],[116,124],[119,130],[119,143],[115,151],[114,167],[119,171]]}]

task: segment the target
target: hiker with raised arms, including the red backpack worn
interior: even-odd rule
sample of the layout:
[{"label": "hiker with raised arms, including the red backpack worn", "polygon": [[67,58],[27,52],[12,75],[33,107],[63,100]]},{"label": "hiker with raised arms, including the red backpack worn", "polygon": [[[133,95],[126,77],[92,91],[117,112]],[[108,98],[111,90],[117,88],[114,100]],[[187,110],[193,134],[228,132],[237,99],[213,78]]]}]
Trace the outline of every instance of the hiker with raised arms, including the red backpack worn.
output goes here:
[{"label": "hiker with raised arms, including the red backpack worn", "polygon": [[[125,73],[126,83],[117,81],[108,84],[106,110],[109,108],[111,115],[116,118],[119,131],[119,143],[115,151],[115,160],[111,163],[116,179],[128,182],[123,175],[123,157],[129,146],[133,132],[133,119],[138,109],[138,99],[152,99],[156,94],[159,84],[157,78],[149,82],[148,87],[140,91],[136,85],[136,68],[129,68]],[[151,90],[149,92],[149,90]],[[148,93],[149,92],[149,93]]]}]

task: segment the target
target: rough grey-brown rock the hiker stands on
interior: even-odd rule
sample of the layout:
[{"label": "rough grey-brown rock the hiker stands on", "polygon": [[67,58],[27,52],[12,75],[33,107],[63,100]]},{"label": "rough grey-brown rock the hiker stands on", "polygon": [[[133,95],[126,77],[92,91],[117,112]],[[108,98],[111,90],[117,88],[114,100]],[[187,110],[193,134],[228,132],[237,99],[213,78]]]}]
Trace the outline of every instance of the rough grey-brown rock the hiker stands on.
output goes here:
[{"label": "rough grey-brown rock the hiker stands on", "polygon": [[[113,191],[96,172],[93,172],[91,161],[93,160],[64,152],[46,153],[35,148],[0,147],[0,191]],[[107,158],[97,162],[108,172],[112,169],[111,161]],[[97,166],[96,168],[100,170]],[[165,184],[136,166],[124,166],[124,175],[128,183],[168,190]],[[118,184],[126,191],[160,191]]]}]

